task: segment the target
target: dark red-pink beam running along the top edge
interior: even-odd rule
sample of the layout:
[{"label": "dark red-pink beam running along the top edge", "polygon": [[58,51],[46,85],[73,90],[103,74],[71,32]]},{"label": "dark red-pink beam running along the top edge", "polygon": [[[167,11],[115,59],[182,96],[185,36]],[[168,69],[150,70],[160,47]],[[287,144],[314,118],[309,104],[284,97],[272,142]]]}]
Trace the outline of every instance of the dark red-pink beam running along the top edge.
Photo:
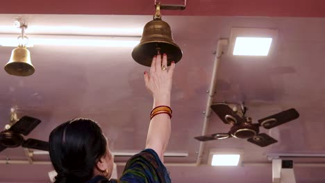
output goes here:
[{"label": "dark red-pink beam running along the top edge", "polygon": [[[161,0],[182,4],[184,0]],[[78,14],[78,15],[151,15],[154,0],[30,0],[3,1],[0,13],[6,14]],[[253,17],[325,17],[323,0],[188,0],[183,12],[165,15],[253,16]]]}]

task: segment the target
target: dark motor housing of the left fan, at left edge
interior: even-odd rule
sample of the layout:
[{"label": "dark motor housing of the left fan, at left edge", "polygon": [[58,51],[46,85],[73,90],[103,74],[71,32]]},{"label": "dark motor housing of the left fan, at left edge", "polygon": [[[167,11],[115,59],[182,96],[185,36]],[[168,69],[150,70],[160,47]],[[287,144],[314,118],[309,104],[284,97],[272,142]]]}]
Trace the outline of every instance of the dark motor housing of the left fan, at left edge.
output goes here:
[{"label": "dark motor housing of the left fan, at left edge", "polygon": [[0,133],[0,143],[7,148],[15,148],[21,146],[24,137],[21,134],[6,130]]}]

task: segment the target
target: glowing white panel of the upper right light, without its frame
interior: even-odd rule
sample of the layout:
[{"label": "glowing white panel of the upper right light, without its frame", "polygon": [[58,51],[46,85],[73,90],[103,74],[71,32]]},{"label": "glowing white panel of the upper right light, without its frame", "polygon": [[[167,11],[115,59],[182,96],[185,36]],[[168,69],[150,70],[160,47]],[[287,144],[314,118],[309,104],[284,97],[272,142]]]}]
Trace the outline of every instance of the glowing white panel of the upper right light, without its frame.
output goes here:
[{"label": "glowing white panel of the upper right light, without its frame", "polygon": [[233,55],[267,56],[271,44],[271,37],[237,37]]}]

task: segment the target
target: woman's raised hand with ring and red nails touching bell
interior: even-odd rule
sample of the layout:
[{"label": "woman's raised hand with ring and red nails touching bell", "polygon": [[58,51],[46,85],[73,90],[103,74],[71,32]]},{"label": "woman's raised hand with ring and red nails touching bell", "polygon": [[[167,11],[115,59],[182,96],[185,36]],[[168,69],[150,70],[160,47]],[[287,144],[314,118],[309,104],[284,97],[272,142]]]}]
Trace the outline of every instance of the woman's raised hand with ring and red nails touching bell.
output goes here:
[{"label": "woman's raised hand with ring and red nails touching bell", "polygon": [[163,62],[161,55],[153,57],[150,73],[144,72],[146,87],[156,101],[160,101],[160,98],[170,98],[174,69],[175,62],[167,69],[167,55],[164,54]]}]

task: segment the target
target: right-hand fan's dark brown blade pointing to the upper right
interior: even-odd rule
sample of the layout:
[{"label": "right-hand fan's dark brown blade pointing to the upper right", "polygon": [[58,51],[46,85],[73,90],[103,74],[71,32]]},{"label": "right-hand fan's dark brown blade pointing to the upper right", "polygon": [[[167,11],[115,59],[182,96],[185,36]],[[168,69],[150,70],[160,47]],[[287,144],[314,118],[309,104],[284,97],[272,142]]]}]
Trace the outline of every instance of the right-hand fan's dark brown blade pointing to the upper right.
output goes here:
[{"label": "right-hand fan's dark brown blade pointing to the upper right", "polygon": [[288,123],[299,117],[299,113],[295,109],[285,110],[278,114],[268,116],[267,118],[258,120],[258,123],[266,129],[274,128],[283,123]]}]

